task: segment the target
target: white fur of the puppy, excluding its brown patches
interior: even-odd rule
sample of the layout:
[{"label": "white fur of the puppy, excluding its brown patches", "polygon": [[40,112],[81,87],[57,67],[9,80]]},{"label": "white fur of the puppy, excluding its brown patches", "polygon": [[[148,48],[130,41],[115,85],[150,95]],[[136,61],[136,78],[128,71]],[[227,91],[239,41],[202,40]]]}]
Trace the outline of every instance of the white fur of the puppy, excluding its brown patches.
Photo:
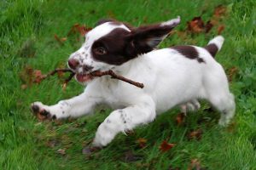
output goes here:
[{"label": "white fur of the puppy, excluding its brown patches", "polygon": [[[188,59],[172,48],[154,50],[119,66],[95,61],[89,54],[92,42],[114,28],[116,26],[108,23],[97,26],[88,33],[89,40],[71,57],[83,58],[82,64],[93,65],[95,70],[113,69],[123,77],[143,82],[143,89],[105,76],[89,82],[84,93],[73,99],[62,100],[51,106],[40,102],[33,105],[38,105],[40,110],[49,111],[57,119],[88,115],[100,104],[112,107],[114,111],[97,129],[93,142],[96,146],[107,145],[119,132],[125,133],[141,124],[154,121],[157,114],[176,105],[187,104],[192,110],[198,109],[200,104],[197,99],[207,99],[222,113],[220,125],[230,122],[235,114],[234,97],[230,94],[223,67],[205,48],[195,47],[205,63]],[[223,40],[223,37],[216,37],[211,43],[221,48]],[[84,54],[88,54],[86,59]]]}]

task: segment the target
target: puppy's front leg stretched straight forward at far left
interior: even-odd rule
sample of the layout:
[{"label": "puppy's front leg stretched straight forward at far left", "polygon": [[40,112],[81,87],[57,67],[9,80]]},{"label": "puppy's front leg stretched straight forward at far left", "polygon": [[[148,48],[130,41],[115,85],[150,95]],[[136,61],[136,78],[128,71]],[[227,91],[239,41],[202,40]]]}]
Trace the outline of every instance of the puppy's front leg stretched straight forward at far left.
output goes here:
[{"label": "puppy's front leg stretched straight forward at far left", "polygon": [[83,94],[65,99],[56,105],[44,105],[41,102],[34,102],[31,105],[32,112],[41,119],[61,119],[67,117],[79,117],[89,114],[93,111],[96,104],[101,102],[101,98],[91,93],[90,90],[84,91]]}]

